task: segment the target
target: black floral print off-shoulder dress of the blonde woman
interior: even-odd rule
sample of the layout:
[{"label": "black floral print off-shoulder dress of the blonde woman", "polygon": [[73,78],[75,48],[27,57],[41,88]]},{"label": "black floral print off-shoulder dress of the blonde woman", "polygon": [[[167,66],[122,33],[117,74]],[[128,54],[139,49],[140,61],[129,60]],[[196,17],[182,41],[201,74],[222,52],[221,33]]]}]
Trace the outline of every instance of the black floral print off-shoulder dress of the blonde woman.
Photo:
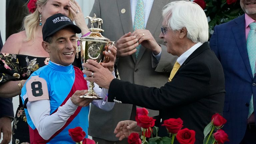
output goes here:
[{"label": "black floral print off-shoulder dress of the blonde woman", "polygon": [[[0,53],[0,85],[8,81],[26,80],[38,68],[48,64],[50,58]],[[12,127],[13,144],[29,144],[29,128],[25,111],[19,97]]]}]

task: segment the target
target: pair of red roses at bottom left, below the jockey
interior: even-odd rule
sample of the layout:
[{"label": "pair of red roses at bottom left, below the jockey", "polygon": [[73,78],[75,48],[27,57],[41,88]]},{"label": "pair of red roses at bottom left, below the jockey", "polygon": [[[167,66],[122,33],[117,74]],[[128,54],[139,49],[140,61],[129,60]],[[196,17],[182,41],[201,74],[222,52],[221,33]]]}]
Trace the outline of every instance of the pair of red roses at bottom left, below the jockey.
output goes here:
[{"label": "pair of red roses at bottom left, below the jockey", "polygon": [[95,144],[94,140],[84,138],[86,134],[81,127],[69,129],[68,133],[76,144]]}]

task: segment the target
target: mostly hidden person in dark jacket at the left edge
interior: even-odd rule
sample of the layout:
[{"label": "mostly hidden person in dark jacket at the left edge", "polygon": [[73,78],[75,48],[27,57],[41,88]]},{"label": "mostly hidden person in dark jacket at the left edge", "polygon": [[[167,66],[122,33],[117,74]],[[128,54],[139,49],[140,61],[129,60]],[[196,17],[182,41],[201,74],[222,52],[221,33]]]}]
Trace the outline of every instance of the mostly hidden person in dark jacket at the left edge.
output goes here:
[{"label": "mostly hidden person in dark jacket at the left edge", "polygon": [[[0,32],[0,51],[3,47],[3,41]],[[3,133],[1,144],[8,144],[12,135],[12,120],[14,119],[12,98],[0,98],[0,138]]]}]

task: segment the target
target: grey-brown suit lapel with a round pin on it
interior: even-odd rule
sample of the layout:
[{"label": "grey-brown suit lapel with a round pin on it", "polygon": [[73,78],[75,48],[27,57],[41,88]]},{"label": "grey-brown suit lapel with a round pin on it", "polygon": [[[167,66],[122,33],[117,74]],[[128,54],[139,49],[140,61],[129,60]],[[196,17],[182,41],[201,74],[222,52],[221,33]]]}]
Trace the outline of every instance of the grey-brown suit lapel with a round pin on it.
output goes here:
[{"label": "grey-brown suit lapel with a round pin on it", "polygon": [[[130,0],[116,0],[116,3],[124,33],[133,32]],[[125,13],[121,12],[122,9],[125,9]],[[135,53],[131,56],[135,63]]]}]

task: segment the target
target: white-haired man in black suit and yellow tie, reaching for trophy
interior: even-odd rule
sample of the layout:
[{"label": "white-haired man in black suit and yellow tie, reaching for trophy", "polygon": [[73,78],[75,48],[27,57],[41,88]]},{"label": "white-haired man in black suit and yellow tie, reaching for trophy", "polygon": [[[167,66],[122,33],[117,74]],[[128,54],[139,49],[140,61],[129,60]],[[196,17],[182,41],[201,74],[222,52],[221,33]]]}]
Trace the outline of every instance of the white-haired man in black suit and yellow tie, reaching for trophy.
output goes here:
[{"label": "white-haired man in black suit and yellow tie, reaching for trophy", "polygon": [[[196,144],[202,144],[204,127],[213,114],[223,110],[223,69],[210,50],[207,18],[199,5],[186,1],[171,2],[163,10],[163,17],[159,37],[166,43],[167,52],[178,56],[169,82],[163,87],[146,87],[114,79],[106,69],[91,60],[83,66],[94,74],[85,79],[109,88],[108,101],[159,110],[156,120],[160,126],[159,136],[167,136],[166,128],[161,126],[164,120],[181,118],[184,127],[196,131]],[[86,70],[83,73],[92,74]]]}]

